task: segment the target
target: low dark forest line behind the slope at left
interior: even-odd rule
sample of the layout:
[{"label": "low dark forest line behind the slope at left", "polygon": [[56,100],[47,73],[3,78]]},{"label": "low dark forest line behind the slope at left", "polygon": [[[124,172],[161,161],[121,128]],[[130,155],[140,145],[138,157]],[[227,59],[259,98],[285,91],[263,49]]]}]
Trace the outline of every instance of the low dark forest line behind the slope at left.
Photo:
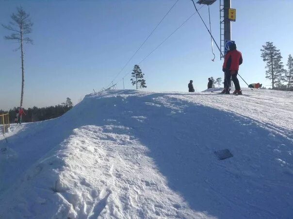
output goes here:
[{"label": "low dark forest line behind the slope at left", "polygon": [[[65,102],[58,104],[56,106],[48,106],[38,108],[34,106],[33,108],[24,109],[26,116],[22,117],[23,122],[36,122],[43,121],[51,118],[57,118],[65,114],[68,110],[73,107],[73,103],[70,98],[67,98]],[[0,110],[0,115],[9,113],[10,123],[15,122],[17,107],[10,109],[9,111]]]}]

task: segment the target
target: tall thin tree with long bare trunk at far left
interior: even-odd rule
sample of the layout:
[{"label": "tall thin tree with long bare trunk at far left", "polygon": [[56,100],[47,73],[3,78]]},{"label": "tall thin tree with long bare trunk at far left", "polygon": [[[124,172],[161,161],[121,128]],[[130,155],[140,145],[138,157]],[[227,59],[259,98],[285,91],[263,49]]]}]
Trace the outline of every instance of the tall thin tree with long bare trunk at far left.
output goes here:
[{"label": "tall thin tree with long bare trunk at far left", "polygon": [[22,83],[21,83],[21,97],[20,97],[20,106],[23,103],[23,88],[24,88],[24,51],[23,51],[23,43],[31,43],[33,44],[33,40],[27,37],[27,34],[32,33],[33,23],[31,22],[30,15],[27,14],[23,8],[20,6],[17,7],[16,14],[12,14],[12,21],[9,22],[8,25],[3,25],[5,29],[9,31],[13,31],[14,33],[5,36],[5,39],[15,40],[20,44],[20,46],[16,50],[21,50],[21,75],[22,75]]}]

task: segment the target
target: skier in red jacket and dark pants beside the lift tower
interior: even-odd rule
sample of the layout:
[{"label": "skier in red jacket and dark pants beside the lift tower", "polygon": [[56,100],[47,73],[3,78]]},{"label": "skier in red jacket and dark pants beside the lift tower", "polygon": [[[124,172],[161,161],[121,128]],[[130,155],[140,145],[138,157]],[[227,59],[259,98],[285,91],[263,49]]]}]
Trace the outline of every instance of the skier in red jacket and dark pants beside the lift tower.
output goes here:
[{"label": "skier in red jacket and dark pants beside the lift tower", "polygon": [[236,50],[237,46],[235,43],[232,43],[229,47],[229,51],[225,56],[225,61],[223,64],[223,71],[225,73],[225,80],[224,80],[224,90],[222,94],[230,94],[229,84],[232,76],[232,81],[235,85],[235,91],[233,94],[242,94],[240,89],[239,80],[237,78],[239,66],[242,64],[242,54],[240,51]]}]

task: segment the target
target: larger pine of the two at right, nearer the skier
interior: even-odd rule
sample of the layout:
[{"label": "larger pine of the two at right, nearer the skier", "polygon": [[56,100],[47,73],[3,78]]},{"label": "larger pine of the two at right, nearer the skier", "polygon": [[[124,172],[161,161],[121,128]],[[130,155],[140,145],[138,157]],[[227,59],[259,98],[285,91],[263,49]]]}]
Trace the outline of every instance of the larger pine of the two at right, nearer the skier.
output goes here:
[{"label": "larger pine of the two at right, nearer the skier", "polygon": [[281,61],[282,56],[280,50],[273,45],[273,42],[266,42],[261,49],[261,58],[266,62],[266,78],[272,80],[272,89],[276,84],[282,81],[282,74],[284,73],[284,65]]}]

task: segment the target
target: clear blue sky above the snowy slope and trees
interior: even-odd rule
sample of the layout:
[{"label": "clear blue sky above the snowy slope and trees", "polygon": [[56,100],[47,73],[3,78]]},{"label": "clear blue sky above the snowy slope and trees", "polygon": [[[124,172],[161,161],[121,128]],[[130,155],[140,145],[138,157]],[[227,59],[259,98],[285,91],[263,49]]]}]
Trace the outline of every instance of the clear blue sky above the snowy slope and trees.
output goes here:
[{"label": "clear blue sky above the snowy slope and trees", "polygon": [[[74,103],[84,95],[107,86],[146,36],[176,0],[0,0],[0,23],[7,24],[20,4],[30,13],[34,45],[25,45],[24,107],[59,104],[69,97]],[[248,3],[249,2],[249,3]],[[277,2],[277,3],[276,3]],[[232,39],[243,53],[241,76],[250,83],[265,80],[261,46],[274,42],[283,62],[293,54],[292,0],[231,0],[237,9]],[[211,6],[212,32],[219,42],[219,0]],[[129,72],[187,17],[195,12],[191,0],[179,0],[146,44],[116,81]],[[208,22],[208,8],[200,10]],[[21,90],[20,51],[5,40],[0,28],[0,109],[19,105]],[[140,64],[146,90],[186,91],[189,80],[195,89],[206,89],[208,77],[222,77],[222,63],[211,52],[208,32],[193,16],[158,50]],[[133,89],[130,75],[125,88]],[[245,87],[240,80],[242,87]],[[118,88],[123,88],[122,82]]]}]

